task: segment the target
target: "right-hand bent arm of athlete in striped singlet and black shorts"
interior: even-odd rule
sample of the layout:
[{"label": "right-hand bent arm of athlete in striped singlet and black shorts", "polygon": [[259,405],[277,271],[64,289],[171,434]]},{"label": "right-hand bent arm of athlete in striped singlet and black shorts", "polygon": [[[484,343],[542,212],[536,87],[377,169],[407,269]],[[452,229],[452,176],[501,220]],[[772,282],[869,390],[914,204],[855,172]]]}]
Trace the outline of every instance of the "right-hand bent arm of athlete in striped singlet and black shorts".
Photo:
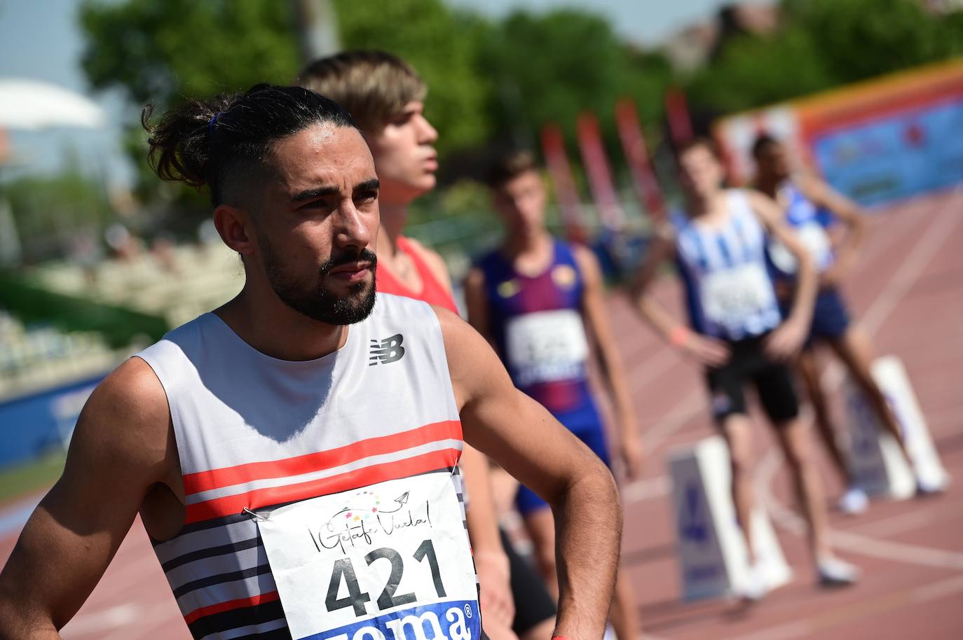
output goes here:
[{"label": "right-hand bent arm of athlete in striped singlet and black shorts", "polygon": [[773,358],[786,360],[798,352],[809,333],[818,286],[816,269],[809,251],[799,242],[794,231],[786,223],[779,205],[764,193],[746,191],[746,194],[756,217],[773,238],[789,249],[798,265],[795,274],[793,307],[789,317],[766,339],[768,354]]}]

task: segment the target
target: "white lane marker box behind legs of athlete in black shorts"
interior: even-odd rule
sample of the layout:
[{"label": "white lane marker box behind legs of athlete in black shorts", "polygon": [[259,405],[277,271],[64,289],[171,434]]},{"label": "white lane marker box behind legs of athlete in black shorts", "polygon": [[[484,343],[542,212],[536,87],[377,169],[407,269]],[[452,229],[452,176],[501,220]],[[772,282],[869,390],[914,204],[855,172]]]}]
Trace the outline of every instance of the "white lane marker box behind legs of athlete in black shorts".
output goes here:
[{"label": "white lane marker box behind legs of athlete in black shorts", "polygon": [[[683,599],[717,598],[738,591],[746,579],[745,538],[732,502],[729,448],[721,436],[677,448],[669,455],[676,541]],[[757,504],[750,521],[756,565],[768,589],[793,578],[786,557]]]}]

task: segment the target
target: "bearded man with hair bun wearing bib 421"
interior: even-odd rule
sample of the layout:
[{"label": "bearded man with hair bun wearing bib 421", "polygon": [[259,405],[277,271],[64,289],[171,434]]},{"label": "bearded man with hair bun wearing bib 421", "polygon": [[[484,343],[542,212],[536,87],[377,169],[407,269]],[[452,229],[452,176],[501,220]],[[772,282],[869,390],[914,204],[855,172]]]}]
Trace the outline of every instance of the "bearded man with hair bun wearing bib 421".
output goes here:
[{"label": "bearded man with hair bun wearing bib 421", "polygon": [[140,514],[197,639],[477,640],[466,440],[553,505],[556,632],[600,640],[612,476],[467,323],[376,293],[380,185],[351,115],[259,85],[143,121],[158,175],[210,189],[244,288],[94,390],[0,573],[0,638],[59,638]]}]

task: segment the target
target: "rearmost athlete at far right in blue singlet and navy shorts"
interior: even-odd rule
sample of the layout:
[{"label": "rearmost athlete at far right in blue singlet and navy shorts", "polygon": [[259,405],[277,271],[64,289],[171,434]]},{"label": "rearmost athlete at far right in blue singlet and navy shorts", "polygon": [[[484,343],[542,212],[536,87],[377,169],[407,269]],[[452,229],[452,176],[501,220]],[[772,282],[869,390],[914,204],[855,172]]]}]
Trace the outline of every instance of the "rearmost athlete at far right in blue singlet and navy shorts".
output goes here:
[{"label": "rearmost athlete at far right in blue singlet and navy shorts", "polygon": [[[792,175],[785,147],[773,138],[760,136],[752,147],[756,160],[756,187],[782,205],[785,219],[795,229],[820,274],[820,291],[816,297],[813,323],[806,347],[799,354],[796,369],[806,386],[816,414],[820,439],[829,450],[835,466],[846,481],[846,493],[839,501],[846,513],[860,513],[868,504],[866,493],[852,479],[846,457],[836,438],[836,429],[829,416],[825,394],[820,387],[820,373],[813,346],[823,343],[846,366],[869,404],[878,423],[896,439],[903,456],[913,463],[906,451],[900,428],[892,408],[872,377],[873,348],[865,330],[849,320],[846,302],[840,292],[843,278],[852,268],[865,236],[866,223],[859,206],[841,193],[833,191],[815,176]],[[838,243],[831,241],[824,216],[829,213],[845,229]],[[779,285],[780,298],[792,294],[795,282],[795,261],[779,243],[769,246],[769,261]],[[917,477],[921,494],[941,491],[942,484],[934,484],[924,476]]]}]

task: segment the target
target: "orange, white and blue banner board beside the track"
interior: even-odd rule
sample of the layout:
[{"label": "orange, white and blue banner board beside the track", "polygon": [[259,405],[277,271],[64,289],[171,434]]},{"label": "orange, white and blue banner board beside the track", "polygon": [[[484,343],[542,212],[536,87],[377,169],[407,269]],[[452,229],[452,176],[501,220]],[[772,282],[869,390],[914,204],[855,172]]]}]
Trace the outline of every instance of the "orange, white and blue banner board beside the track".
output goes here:
[{"label": "orange, white and blue banner board beside the track", "polygon": [[752,179],[760,133],[864,205],[947,189],[963,183],[963,60],[722,118],[714,134],[731,182]]}]

